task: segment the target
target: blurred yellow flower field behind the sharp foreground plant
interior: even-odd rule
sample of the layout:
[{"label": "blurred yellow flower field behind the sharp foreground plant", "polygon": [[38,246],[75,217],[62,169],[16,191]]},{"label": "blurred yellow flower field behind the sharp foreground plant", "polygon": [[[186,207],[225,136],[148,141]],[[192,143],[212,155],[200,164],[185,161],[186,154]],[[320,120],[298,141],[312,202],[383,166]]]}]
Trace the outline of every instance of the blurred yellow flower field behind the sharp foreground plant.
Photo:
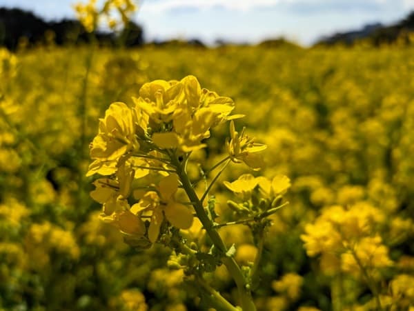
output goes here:
[{"label": "blurred yellow flower field behind the sharp foreground plant", "polygon": [[[144,83],[188,75],[233,99],[237,130],[268,146],[261,171],[230,163],[221,174],[219,217],[242,174],[290,179],[257,309],[414,310],[414,48],[363,43],[1,49],[0,310],[203,310],[168,248],[128,245],[99,219],[86,177],[110,103],[132,107]],[[229,135],[228,123],[212,130],[191,178],[226,156]],[[242,265],[257,252],[246,229],[219,229]],[[226,268],[206,278],[237,301]]]}]

